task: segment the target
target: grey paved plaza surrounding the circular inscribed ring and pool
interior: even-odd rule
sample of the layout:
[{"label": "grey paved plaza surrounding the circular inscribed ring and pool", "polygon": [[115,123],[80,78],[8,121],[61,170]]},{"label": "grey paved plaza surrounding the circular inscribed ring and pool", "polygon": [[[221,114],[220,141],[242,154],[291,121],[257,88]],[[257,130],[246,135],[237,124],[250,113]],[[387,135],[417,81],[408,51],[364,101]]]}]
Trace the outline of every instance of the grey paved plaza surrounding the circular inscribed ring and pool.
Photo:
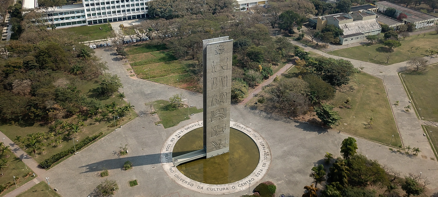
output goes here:
[{"label": "grey paved plaza surrounding the circular inscribed ring and pool", "polygon": [[[124,125],[117,131],[103,137],[101,140],[81,150],[78,155],[71,156],[64,162],[56,165],[44,176],[50,177],[51,186],[57,188],[63,197],[86,197],[103,180],[116,180],[119,184],[119,191],[116,197],[205,197],[213,196],[202,194],[186,189],[176,183],[166,174],[160,162],[160,152],[168,137],[178,128],[202,120],[202,113],[191,116],[190,120],[181,122],[176,127],[164,129],[162,126],[155,126],[157,116],[149,114],[150,108],[145,103],[159,99],[168,99],[170,96],[183,93],[187,96],[190,105],[202,108],[202,95],[199,93],[173,88],[167,85],[151,81],[129,77],[128,65],[123,65],[125,60],[119,60],[115,56],[115,49],[96,49],[96,56],[108,62],[109,71],[118,74],[124,84],[123,90],[126,100],[135,106],[139,117]],[[354,65],[357,63],[353,62]],[[371,67],[366,67],[366,70]],[[375,68],[376,74],[380,68]],[[390,69],[387,67],[386,69]],[[379,73],[380,74],[380,73]],[[385,85],[392,83],[396,87],[396,76],[385,78]],[[391,85],[391,84],[388,84]],[[404,91],[404,90],[396,90]],[[400,92],[401,94],[401,92]],[[406,95],[406,94],[405,94]],[[390,100],[403,99],[392,98]],[[186,102],[187,102],[186,101]],[[401,105],[403,106],[403,105]],[[261,181],[272,181],[277,185],[277,194],[290,194],[301,196],[303,187],[309,185],[312,179],[309,177],[311,168],[314,165],[322,164],[325,152],[332,153],[339,157],[339,147],[344,138],[350,135],[326,130],[307,123],[295,122],[293,120],[275,115],[265,114],[244,105],[231,106],[231,120],[244,124],[258,132],[267,142],[272,152],[272,163],[265,177]],[[397,123],[399,121],[396,119]],[[407,156],[396,151],[390,151],[389,147],[374,143],[372,141],[357,139],[359,152],[367,155],[370,159],[378,160],[382,165],[389,165],[404,174],[413,172],[422,177],[427,176],[431,182],[428,188],[435,191],[438,188],[438,165],[431,160],[434,158],[430,147],[427,148],[427,139],[419,136],[415,124],[403,125],[402,129],[412,129],[410,134],[402,135],[403,140],[408,144],[424,144],[420,146],[422,152],[419,156]],[[410,124],[410,123],[407,123]],[[424,142],[426,141],[426,142]],[[115,152],[119,150],[120,144],[128,144],[129,154],[119,157]],[[411,144],[412,145],[412,144]],[[133,163],[133,169],[122,170],[125,161]],[[109,176],[99,177],[104,169],[109,170]],[[137,179],[138,186],[130,187],[128,181]],[[260,181],[260,182],[261,182]],[[260,183],[258,182],[258,183]],[[257,184],[258,184],[257,183]],[[238,193],[226,194],[226,197],[238,197],[246,194],[257,185],[251,183],[251,187]],[[429,193],[431,194],[431,193]]]}]

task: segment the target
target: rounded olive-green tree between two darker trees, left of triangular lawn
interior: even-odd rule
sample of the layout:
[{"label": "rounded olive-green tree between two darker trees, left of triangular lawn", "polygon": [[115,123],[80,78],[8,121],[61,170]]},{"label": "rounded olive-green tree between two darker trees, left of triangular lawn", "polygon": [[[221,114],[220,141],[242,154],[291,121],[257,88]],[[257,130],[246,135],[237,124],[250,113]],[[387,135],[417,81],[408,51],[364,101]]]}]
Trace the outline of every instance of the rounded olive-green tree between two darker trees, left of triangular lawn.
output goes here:
[{"label": "rounded olive-green tree between two darker trees, left of triangular lawn", "polygon": [[331,100],[335,97],[335,88],[329,83],[322,81],[319,77],[306,75],[303,79],[309,84],[309,96],[312,103]]}]

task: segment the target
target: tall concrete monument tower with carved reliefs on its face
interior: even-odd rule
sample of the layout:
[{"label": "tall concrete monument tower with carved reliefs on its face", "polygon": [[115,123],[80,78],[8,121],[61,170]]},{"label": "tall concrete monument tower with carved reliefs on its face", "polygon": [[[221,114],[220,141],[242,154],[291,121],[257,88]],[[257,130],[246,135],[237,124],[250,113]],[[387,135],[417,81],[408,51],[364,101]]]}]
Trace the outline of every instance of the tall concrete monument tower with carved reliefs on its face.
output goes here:
[{"label": "tall concrete monument tower with carved reliefs on its face", "polygon": [[204,148],[207,158],[230,151],[233,40],[202,41],[204,66]]}]

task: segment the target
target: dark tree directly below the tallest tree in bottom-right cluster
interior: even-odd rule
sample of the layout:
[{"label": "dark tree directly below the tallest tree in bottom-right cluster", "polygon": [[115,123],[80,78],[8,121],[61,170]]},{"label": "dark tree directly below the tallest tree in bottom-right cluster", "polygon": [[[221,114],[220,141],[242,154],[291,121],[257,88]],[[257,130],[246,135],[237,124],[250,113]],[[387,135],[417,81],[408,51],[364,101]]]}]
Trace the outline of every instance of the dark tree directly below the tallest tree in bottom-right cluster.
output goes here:
[{"label": "dark tree directly below the tallest tree in bottom-right cluster", "polygon": [[327,174],[329,183],[336,183],[339,186],[345,187],[348,185],[348,177],[350,176],[349,168],[344,160],[337,159],[333,166],[330,167],[330,172]]}]

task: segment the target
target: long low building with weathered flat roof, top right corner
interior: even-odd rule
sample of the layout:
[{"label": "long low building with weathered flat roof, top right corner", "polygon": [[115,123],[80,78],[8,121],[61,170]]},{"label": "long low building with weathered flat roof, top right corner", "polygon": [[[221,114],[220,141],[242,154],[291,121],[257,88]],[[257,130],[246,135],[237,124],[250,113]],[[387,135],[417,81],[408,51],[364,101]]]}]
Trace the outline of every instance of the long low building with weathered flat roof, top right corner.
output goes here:
[{"label": "long low building with weathered flat roof, top right corner", "polygon": [[376,6],[378,7],[378,11],[382,13],[384,13],[389,7],[392,7],[396,9],[395,16],[398,16],[400,13],[406,14],[408,18],[403,18],[403,23],[415,24],[415,28],[425,28],[428,26],[432,26],[435,25],[438,21],[438,17],[434,15],[416,11],[409,7],[404,7],[398,4],[391,3],[389,1],[377,2]]}]

